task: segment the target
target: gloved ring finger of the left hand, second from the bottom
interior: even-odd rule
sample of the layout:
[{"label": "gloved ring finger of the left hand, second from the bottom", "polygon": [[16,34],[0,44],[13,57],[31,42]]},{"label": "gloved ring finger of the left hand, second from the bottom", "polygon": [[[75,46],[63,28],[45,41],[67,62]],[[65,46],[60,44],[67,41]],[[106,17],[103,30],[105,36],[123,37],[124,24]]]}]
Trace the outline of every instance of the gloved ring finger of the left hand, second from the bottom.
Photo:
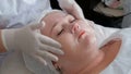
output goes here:
[{"label": "gloved ring finger of the left hand, second from the bottom", "polygon": [[48,51],[37,50],[37,54],[43,57],[43,58],[49,59],[51,61],[58,61],[57,55],[55,55]]}]

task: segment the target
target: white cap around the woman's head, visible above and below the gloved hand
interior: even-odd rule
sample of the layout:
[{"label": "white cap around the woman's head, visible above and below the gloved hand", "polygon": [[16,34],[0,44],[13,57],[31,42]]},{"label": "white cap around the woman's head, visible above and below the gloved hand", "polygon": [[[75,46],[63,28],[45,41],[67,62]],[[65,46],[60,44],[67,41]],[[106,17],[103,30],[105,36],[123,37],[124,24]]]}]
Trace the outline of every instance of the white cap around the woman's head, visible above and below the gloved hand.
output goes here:
[{"label": "white cap around the woman's head, visible above and below the gloved hand", "polygon": [[[45,17],[48,13],[51,13],[53,11],[59,11],[59,10],[43,11],[40,17],[38,18],[38,22],[41,22],[43,17]],[[29,57],[24,52],[22,53],[22,55],[25,62],[25,66],[34,74],[59,74],[59,72],[52,65],[51,60],[49,60],[48,58],[44,57],[44,60],[46,61],[46,65],[44,65],[43,63],[40,63],[39,61],[35,60],[34,58]]]}]

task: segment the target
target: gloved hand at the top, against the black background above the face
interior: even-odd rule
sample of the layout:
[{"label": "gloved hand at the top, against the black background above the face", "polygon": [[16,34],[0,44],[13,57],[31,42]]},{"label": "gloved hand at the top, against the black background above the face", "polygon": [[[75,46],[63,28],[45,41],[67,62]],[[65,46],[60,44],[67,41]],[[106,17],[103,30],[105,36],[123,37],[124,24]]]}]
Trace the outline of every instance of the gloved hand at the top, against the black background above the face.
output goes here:
[{"label": "gloved hand at the top, against the black background above the face", "polygon": [[84,20],[83,11],[74,0],[58,0],[62,10],[76,18]]}]

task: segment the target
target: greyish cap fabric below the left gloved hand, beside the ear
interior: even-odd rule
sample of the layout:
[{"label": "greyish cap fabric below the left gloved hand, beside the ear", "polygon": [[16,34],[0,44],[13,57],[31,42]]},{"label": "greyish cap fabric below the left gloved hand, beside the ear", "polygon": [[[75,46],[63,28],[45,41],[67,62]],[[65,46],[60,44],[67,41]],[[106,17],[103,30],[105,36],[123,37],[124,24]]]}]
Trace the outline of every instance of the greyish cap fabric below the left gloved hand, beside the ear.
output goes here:
[{"label": "greyish cap fabric below the left gloved hand, beside the ear", "polygon": [[39,63],[25,53],[23,53],[23,59],[26,67],[35,74],[59,74],[52,65],[51,61],[48,59],[45,59],[47,61],[47,65]]}]

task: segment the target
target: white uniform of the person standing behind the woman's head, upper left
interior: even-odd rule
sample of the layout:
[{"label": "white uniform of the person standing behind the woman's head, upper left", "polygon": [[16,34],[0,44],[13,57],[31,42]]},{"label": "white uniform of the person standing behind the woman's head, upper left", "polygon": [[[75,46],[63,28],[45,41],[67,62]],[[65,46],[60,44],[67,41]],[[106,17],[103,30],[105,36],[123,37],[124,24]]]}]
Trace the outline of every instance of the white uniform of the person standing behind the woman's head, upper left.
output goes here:
[{"label": "white uniform of the person standing behind the woman's head, upper left", "polygon": [[[49,0],[0,0],[0,28],[27,25],[44,10],[51,10]],[[0,63],[5,54],[0,53]]]}]

